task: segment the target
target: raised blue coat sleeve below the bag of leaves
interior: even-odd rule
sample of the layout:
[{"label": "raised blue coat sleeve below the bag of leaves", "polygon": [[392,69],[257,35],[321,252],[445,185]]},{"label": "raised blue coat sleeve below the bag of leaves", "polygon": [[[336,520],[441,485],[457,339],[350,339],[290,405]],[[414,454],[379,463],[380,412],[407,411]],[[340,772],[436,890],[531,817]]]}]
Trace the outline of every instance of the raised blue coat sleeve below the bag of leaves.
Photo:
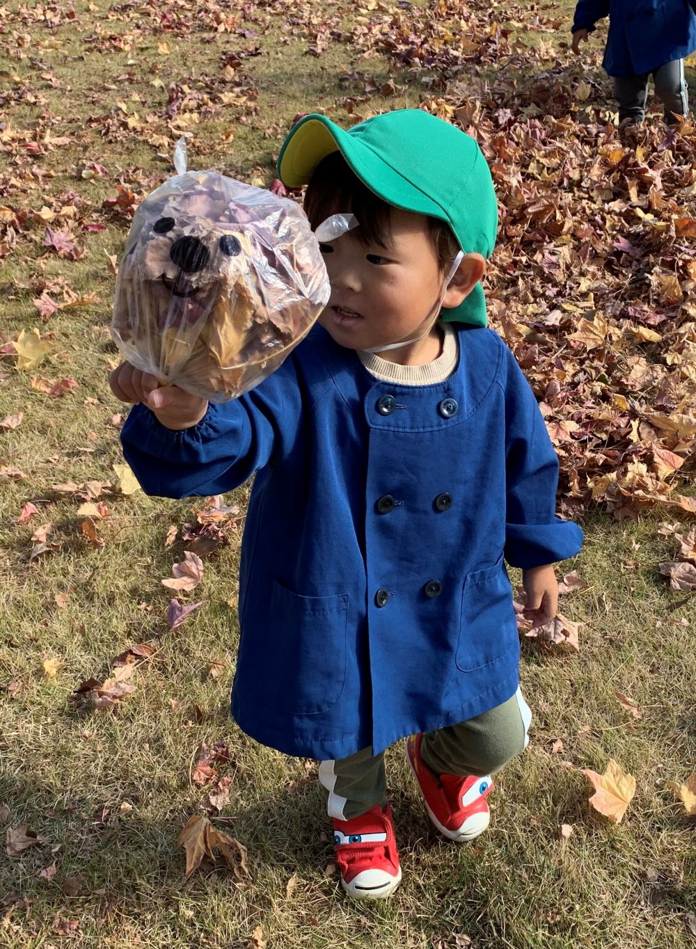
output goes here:
[{"label": "raised blue coat sleeve below the bag of leaves", "polygon": [[251,392],[211,403],[198,425],[179,432],[134,406],[122,428],[123,456],[147,494],[222,494],[289,451],[301,418],[301,389],[288,360]]}]

